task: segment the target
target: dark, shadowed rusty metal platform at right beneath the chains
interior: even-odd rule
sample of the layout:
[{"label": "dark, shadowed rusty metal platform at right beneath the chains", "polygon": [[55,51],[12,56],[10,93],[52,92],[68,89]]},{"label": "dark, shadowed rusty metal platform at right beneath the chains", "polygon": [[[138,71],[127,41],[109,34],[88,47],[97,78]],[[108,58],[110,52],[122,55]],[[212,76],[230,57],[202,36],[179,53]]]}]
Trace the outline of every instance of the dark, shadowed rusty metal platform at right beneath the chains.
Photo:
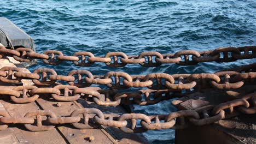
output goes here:
[{"label": "dark, shadowed rusty metal platform at right beneath the chains", "polygon": [[[225,92],[206,89],[205,91],[174,100],[172,104],[176,105],[179,110],[195,110],[203,106],[216,105],[230,99],[241,98],[242,94],[253,93],[255,90],[255,85]],[[211,93],[208,93],[209,91]],[[236,104],[238,103],[236,102]],[[241,101],[241,103],[243,102]],[[226,104],[229,105],[226,105],[228,107],[234,106],[229,102]],[[225,106],[220,105],[219,107],[224,109]],[[237,110],[239,109],[241,107]],[[228,119],[222,119],[218,123],[201,127],[190,125],[187,129],[176,130],[176,143],[256,143],[255,114],[242,115],[239,111],[231,112],[230,110],[234,109],[229,109],[229,116],[226,116]]]}]

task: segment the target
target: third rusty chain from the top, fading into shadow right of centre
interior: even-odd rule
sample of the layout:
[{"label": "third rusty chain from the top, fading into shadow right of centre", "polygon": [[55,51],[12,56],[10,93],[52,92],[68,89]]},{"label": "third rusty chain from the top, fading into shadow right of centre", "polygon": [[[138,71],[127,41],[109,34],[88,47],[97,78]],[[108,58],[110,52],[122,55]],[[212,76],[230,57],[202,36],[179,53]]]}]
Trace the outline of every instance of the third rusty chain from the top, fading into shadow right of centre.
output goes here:
[{"label": "third rusty chain from the top, fading into shadow right of centre", "polygon": [[69,85],[57,85],[54,88],[36,86],[18,86],[13,89],[1,89],[0,95],[8,95],[14,103],[31,103],[39,96],[50,97],[56,101],[75,101],[79,98],[94,101],[97,105],[117,106],[119,104],[153,105],[162,100],[182,97],[182,92],[171,90],[142,89],[137,92],[122,92],[110,90],[88,90]]}]

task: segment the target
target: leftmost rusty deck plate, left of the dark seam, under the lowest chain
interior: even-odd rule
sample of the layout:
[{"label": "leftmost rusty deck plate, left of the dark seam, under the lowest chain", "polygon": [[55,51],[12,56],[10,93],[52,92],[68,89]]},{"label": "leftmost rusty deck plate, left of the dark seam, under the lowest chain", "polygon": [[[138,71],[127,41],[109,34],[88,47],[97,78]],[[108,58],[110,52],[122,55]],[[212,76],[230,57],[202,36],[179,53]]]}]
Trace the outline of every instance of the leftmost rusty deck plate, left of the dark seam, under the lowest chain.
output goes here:
[{"label": "leftmost rusty deck plate, left of the dark seam, under the lowest chain", "polygon": [[[23,117],[28,110],[38,110],[35,103],[13,104],[10,101],[0,100],[0,104],[10,116]],[[4,108],[1,109],[4,109]],[[31,132],[25,130],[21,124],[13,124],[6,130],[0,131],[0,143],[66,143],[56,130]]]}]

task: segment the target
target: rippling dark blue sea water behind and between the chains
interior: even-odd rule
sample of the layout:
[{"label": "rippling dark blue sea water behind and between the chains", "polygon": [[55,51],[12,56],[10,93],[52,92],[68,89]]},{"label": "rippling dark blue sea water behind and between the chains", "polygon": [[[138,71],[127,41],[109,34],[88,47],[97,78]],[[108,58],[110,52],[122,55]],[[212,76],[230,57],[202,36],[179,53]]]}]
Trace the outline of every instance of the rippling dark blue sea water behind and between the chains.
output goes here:
[{"label": "rippling dark blue sea water behind and between the chains", "polygon": [[[90,51],[95,56],[122,51],[138,55],[144,51],[174,53],[181,50],[211,50],[223,46],[255,45],[255,1],[0,1],[0,16],[7,17],[36,43],[37,52],[60,50],[64,55]],[[162,64],[143,68],[130,64],[110,68],[95,63],[92,67],[75,67],[70,62],[30,67],[56,69],[66,75],[73,69],[86,69],[94,75],[108,71],[129,74],[213,73],[223,68],[255,62],[255,59],[231,63],[200,63],[181,67]],[[130,89],[133,90],[133,89]],[[169,101],[152,106],[135,106],[135,112],[154,115],[174,111]],[[144,133],[153,143],[174,143],[174,131],[154,130]]]}]

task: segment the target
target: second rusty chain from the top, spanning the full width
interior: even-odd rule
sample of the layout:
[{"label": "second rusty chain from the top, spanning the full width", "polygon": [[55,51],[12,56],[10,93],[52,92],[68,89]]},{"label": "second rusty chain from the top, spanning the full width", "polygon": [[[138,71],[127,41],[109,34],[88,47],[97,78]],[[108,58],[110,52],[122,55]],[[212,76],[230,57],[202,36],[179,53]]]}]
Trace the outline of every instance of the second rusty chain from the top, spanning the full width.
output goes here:
[{"label": "second rusty chain from the top, spanning the full width", "polygon": [[39,68],[34,70],[33,73],[24,73],[21,68],[16,67],[3,67],[0,69],[1,82],[18,83],[22,79],[30,79],[38,86],[52,86],[58,80],[66,81],[71,86],[89,87],[92,84],[96,84],[106,85],[110,89],[126,89],[130,87],[173,90],[206,87],[231,89],[240,88],[245,82],[253,82],[255,78],[256,72],[238,73],[237,71],[174,75],[153,73],[137,76],[131,76],[124,72],[110,71],[104,76],[94,76],[88,70],[72,70],[65,76],[57,75],[55,70],[48,68]]}]

